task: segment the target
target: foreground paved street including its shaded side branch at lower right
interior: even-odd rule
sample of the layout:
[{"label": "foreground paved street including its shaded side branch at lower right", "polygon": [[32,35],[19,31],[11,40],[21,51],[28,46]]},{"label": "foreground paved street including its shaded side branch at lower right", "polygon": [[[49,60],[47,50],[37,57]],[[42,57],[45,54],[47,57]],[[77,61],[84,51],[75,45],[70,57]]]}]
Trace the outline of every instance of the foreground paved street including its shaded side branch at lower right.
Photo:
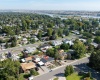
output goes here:
[{"label": "foreground paved street including its shaded side branch at lower right", "polygon": [[[78,68],[80,68],[81,70],[85,71],[84,69],[82,69],[82,67],[85,65],[85,63],[88,63],[88,58],[84,58],[81,60],[77,60],[75,62],[69,63],[67,65],[74,65]],[[40,75],[38,77],[35,77],[34,80],[49,80],[55,76],[63,76],[64,73],[64,69],[66,66],[60,67],[58,69],[52,70],[52,72],[48,72],[46,74]],[[92,75],[94,78],[96,78],[97,80],[100,80],[100,74],[96,73],[96,71],[93,71],[92,69],[89,69],[87,66],[84,66],[88,71],[92,72]],[[94,74],[95,73],[95,74]]]}]

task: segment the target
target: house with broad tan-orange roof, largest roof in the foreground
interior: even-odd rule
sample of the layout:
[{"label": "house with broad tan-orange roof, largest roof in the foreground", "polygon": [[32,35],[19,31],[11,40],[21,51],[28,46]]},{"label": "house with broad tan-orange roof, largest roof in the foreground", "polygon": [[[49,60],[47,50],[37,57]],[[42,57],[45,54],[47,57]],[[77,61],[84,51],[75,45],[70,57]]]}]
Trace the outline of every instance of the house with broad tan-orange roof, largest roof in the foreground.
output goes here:
[{"label": "house with broad tan-orange roof, largest roof in the foreground", "polygon": [[36,65],[33,62],[21,63],[21,69],[23,72],[27,72],[27,71],[34,69],[34,68],[36,68]]}]

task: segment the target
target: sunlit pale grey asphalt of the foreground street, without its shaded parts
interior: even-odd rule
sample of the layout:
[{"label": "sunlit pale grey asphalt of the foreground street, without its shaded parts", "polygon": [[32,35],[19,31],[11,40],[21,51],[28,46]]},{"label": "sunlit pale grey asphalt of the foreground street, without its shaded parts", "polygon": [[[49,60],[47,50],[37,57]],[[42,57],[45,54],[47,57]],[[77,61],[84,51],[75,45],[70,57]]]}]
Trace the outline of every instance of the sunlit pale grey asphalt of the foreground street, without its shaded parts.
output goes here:
[{"label": "sunlit pale grey asphalt of the foreground street, without its shaded parts", "polygon": [[[78,65],[79,63],[83,64],[83,63],[87,63],[87,62],[88,62],[88,58],[84,58],[84,59],[75,61],[73,63],[70,63],[68,65]],[[46,74],[40,75],[38,77],[35,77],[34,80],[49,80],[49,79],[51,79],[51,78],[53,78],[55,76],[60,75],[61,73],[64,73],[65,67],[66,66],[63,66],[63,67],[60,67],[58,69],[52,70],[51,72],[48,72]]]}]

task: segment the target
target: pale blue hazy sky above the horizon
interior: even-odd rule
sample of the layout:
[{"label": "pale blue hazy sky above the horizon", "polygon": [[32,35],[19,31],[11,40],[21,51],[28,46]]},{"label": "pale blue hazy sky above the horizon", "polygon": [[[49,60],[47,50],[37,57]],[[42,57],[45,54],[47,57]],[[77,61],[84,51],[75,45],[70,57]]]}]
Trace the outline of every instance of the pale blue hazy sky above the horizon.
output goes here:
[{"label": "pale blue hazy sky above the horizon", "polygon": [[0,9],[100,11],[100,0],[0,0]]}]

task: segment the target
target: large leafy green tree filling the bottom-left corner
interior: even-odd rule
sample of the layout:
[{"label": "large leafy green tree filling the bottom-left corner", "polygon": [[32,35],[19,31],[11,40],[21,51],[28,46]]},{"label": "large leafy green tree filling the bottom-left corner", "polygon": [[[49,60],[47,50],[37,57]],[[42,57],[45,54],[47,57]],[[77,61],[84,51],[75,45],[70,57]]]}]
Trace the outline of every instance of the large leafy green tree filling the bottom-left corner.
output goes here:
[{"label": "large leafy green tree filling the bottom-left corner", "polygon": [[20,63],[11,59],[0,62],[0,80],[16,80],[19,76]]}]

